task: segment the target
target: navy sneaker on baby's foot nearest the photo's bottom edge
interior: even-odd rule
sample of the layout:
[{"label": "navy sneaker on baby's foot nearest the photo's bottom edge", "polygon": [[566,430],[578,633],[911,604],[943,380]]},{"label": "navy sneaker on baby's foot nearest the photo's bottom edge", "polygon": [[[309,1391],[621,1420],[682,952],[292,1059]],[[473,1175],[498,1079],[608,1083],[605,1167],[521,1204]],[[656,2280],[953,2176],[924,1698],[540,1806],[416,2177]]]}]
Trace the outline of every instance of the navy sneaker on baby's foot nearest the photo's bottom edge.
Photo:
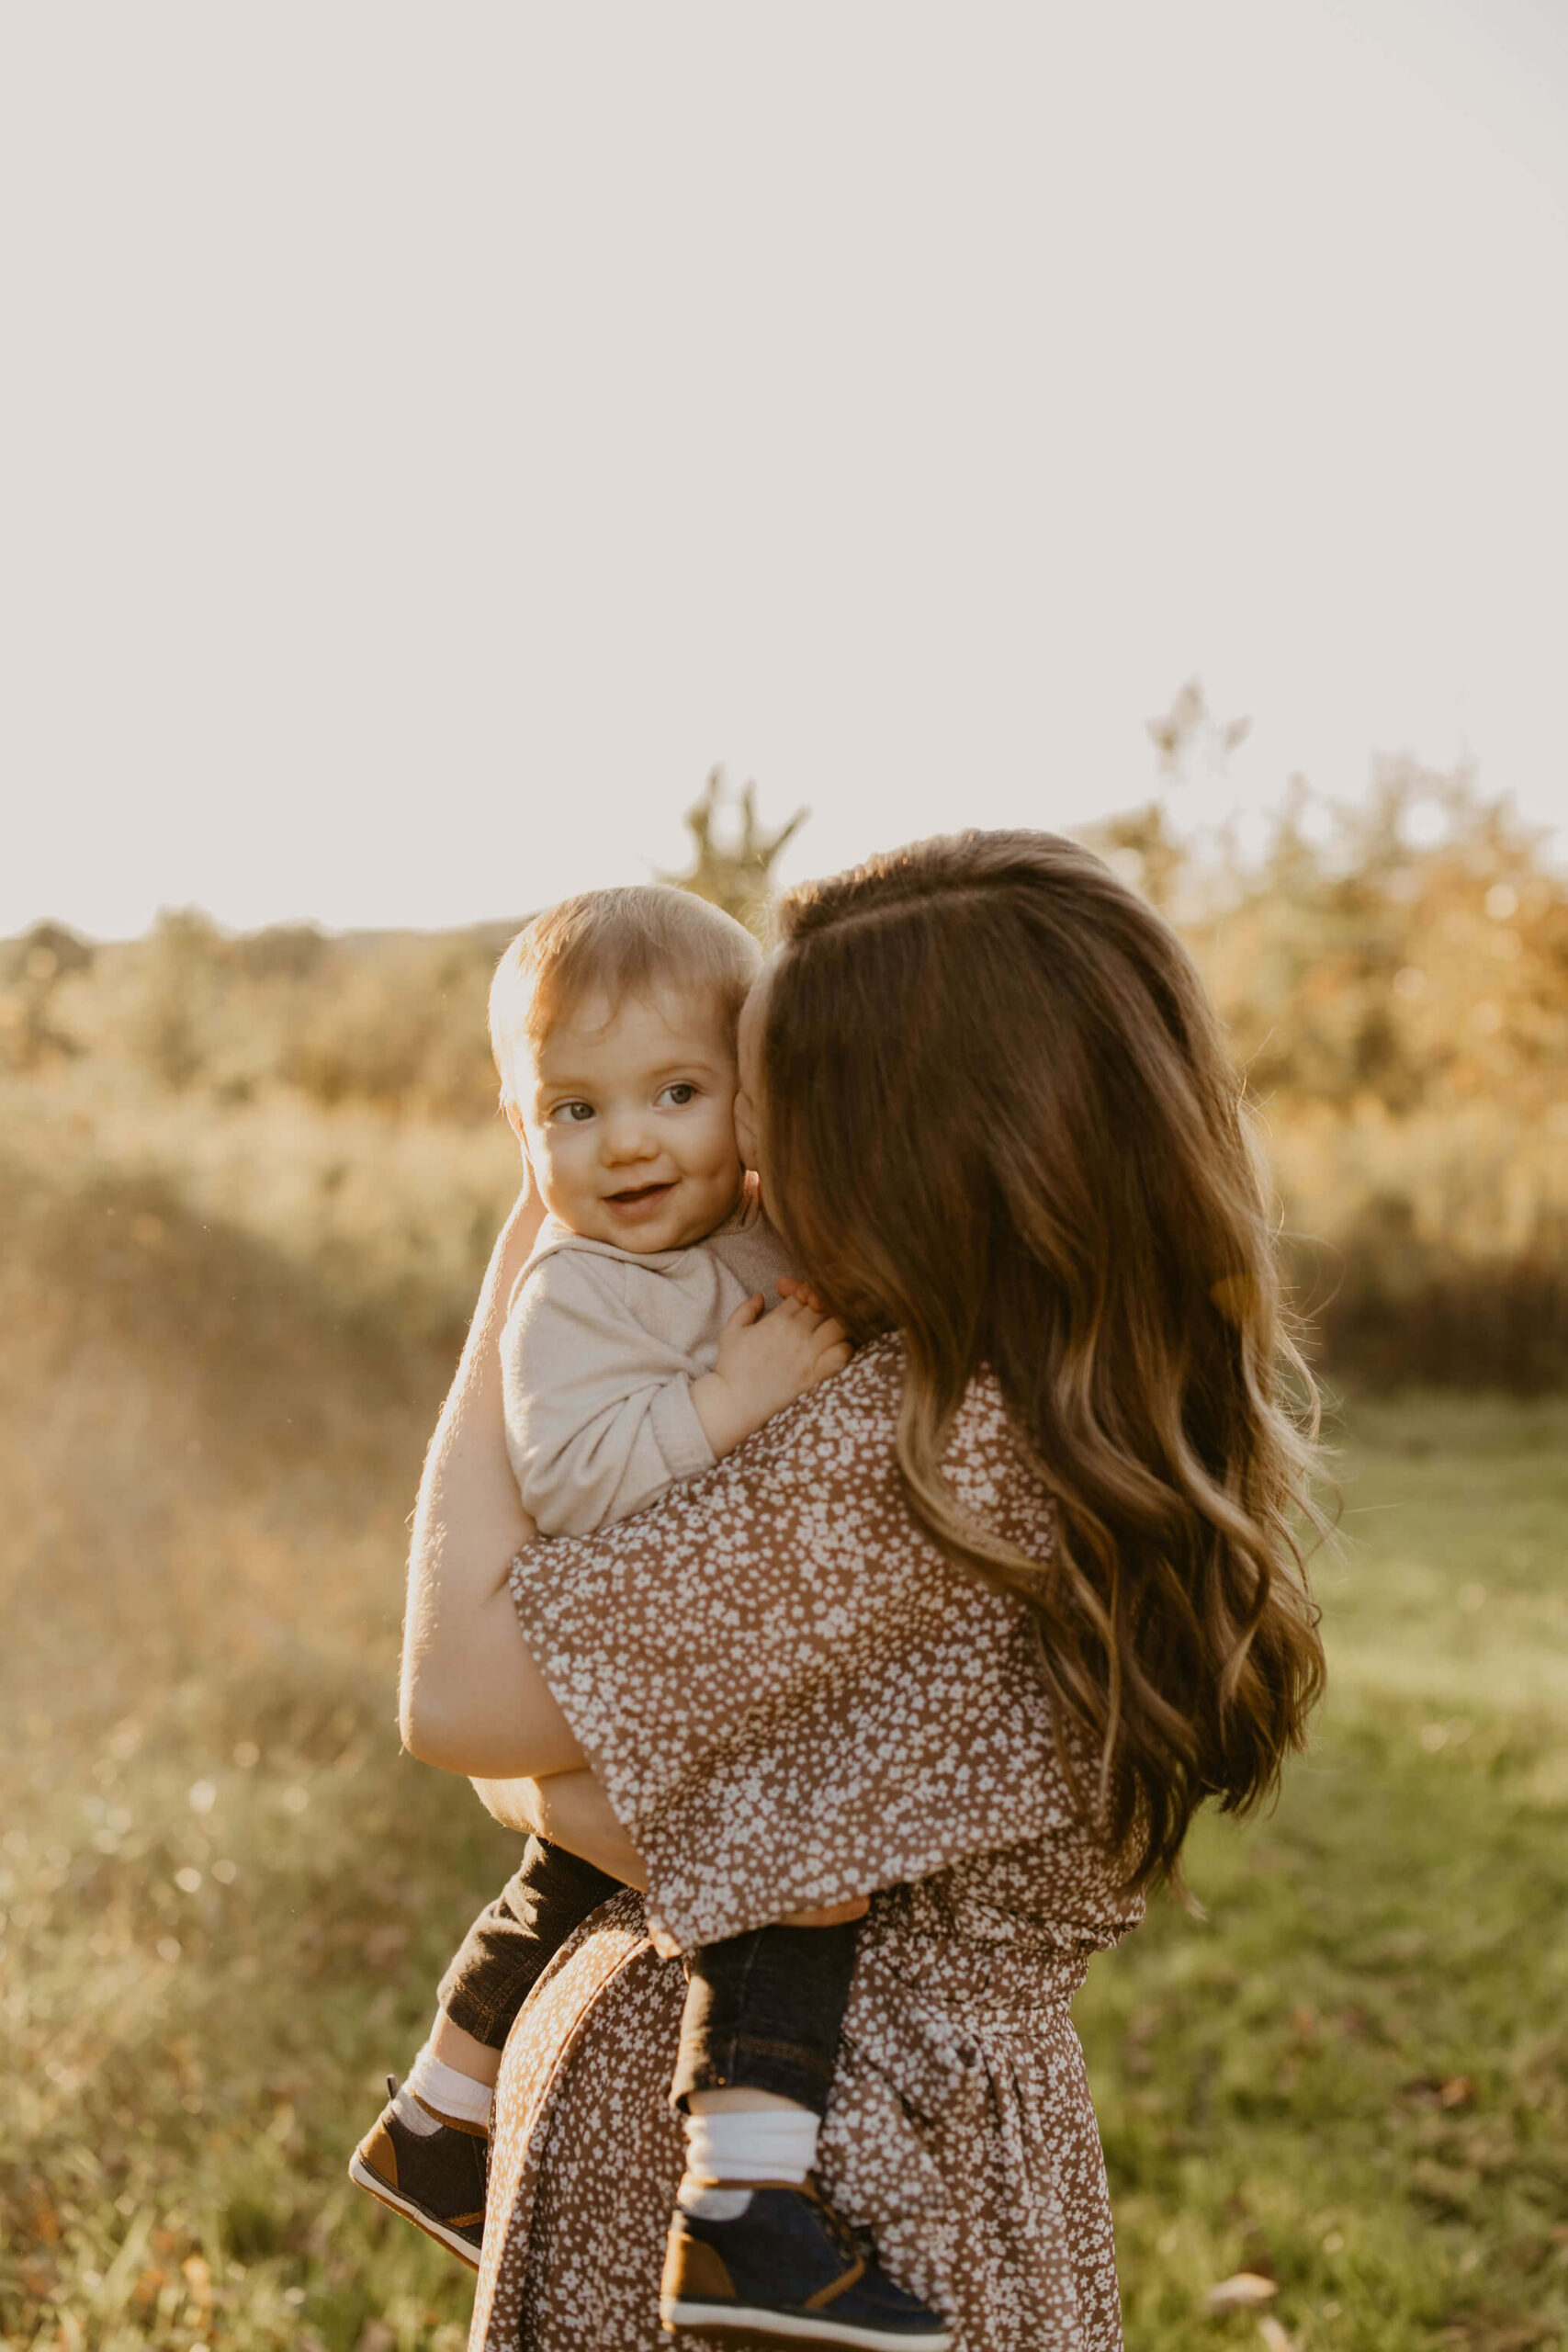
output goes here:
[{"label": "navy sneaker on baby's foot nearest the photo's bottom edge", "polygon": [[792,2345],[947,2352],[952,2328],[893,2286],[816,2187],[715,2180],[677,2206],[658,2288],[665,2328]]}]

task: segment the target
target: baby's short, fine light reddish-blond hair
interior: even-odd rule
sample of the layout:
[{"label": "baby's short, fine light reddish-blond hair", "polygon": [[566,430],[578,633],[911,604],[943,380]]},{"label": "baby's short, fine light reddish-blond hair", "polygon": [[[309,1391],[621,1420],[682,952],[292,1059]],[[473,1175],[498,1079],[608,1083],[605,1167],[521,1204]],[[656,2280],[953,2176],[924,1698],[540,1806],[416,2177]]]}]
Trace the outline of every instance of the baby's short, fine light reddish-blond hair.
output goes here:
[{"label": "baby's short, fine light reddish-blond hair", "polygon": [[628,997],[686,988],[717,1000],[733,1044],[762,950],[722,908],[663,882],[590,889],[524,924],[489,983],[489,1044],[508,1098],[512,1056],[538,1051],[550,1025],[599,990]]}]

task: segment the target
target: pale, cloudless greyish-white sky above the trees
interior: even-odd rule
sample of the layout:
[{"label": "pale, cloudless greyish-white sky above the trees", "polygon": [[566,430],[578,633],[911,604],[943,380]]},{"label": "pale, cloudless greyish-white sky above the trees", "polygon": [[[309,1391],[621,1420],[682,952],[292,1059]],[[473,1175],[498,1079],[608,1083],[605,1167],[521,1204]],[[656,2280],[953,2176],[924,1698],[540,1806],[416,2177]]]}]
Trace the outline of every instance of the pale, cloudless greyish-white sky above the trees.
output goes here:
[{"label": "pale, cloudless greyish-white sky above the trees", "polygon": [[1375,750],[1568,816],[1561,0],[0,16],[0,931]]}]

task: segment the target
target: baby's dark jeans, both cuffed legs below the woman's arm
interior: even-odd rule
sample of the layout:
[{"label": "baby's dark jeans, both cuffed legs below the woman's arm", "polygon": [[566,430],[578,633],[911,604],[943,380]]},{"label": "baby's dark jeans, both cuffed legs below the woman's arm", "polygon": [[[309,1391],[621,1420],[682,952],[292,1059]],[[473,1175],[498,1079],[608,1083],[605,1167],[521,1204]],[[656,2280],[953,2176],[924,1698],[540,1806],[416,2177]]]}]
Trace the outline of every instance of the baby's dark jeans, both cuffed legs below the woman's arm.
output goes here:
[{"label": "baby's dark jeans, both cuffed legs below the woman's arm", "polygon": [[[531,1837],[522,1867],[468,1929],[442,2009],[487,2049],[567,1938],[621,1889],[607,1870]],[[759,1926],[686,1952],[686,2009],[670,2096],[773,2091],[823,2114],[856,1966],[858,1922]]]}]

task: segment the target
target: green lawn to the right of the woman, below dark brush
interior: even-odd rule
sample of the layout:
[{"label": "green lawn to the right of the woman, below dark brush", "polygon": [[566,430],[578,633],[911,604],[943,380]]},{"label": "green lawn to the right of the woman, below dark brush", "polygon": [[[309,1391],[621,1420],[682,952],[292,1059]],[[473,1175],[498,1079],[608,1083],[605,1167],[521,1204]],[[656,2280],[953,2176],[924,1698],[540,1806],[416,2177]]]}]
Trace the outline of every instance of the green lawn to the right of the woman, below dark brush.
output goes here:
[{"label": "green lawn to the right of the woman, below dark brush", "polygon": [[1128,2345],[1568,2343],[1568,1409],[1361,1404],[1331,1700],[1079,2002]]}]

